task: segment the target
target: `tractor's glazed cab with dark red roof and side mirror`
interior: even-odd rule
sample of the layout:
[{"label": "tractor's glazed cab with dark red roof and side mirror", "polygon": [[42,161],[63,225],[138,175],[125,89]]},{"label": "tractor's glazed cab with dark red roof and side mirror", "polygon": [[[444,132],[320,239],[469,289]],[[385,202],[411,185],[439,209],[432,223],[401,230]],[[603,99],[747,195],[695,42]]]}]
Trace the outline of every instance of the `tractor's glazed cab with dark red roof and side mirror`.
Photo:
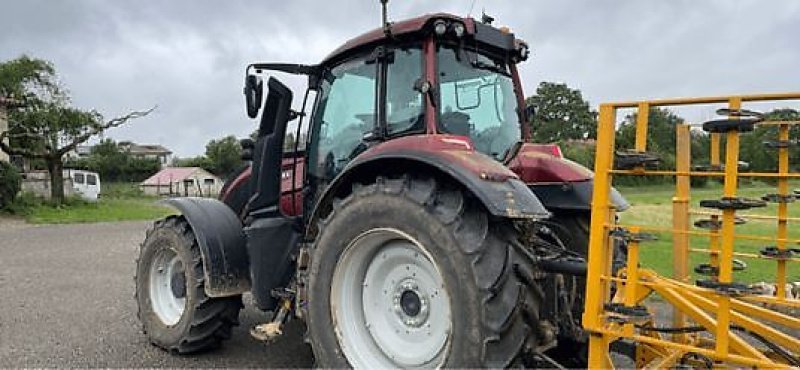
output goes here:
[{"label": "tractor's glazed cab with dark red roof and side mirror", "polygon": [[[318,190],[361,153],[404,136],[447,135],[503,161],[528,132],[515,67],[527,56],[527,44],[505,28],[425,15],[356,37],[318,65],[249,66],[248,113],[255,117],[259,110],[260,73],[309,76],[316,98],[303,106],[312,112],[295,116],[310,125],[298,124],[293,135],[310,127],[305,168]],[[286,209],[294,208],[300,207]]]}]

